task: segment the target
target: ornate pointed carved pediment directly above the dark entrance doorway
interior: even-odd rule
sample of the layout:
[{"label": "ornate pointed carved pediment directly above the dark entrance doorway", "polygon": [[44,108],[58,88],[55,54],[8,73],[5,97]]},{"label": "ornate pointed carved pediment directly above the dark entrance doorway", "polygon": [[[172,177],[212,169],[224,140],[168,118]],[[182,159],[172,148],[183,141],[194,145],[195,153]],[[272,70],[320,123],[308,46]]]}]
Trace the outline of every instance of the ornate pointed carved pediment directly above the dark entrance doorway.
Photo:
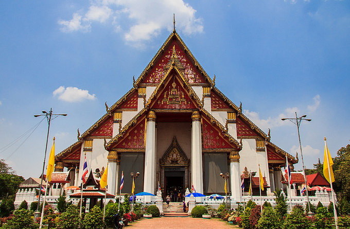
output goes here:
[{"label": "ornate pointed carved pediment directly above the dark entrance doorway", "polygon": [[189,159],[181,149],[178,140],[174,136],[169,148],[161,158],[161,166],[188,166]]}]

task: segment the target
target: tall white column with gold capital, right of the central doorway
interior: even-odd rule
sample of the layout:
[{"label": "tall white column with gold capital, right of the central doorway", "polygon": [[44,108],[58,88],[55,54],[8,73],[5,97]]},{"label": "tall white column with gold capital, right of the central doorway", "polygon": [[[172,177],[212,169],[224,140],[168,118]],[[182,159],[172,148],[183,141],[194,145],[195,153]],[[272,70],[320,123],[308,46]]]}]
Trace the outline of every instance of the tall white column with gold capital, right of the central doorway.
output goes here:
[{"label": "tall white column with gold capital, right of the central doorway", "polygon": [[202,128],[200,118],[201,115],[198,111],[192,113],[191,180],[196,191],[203,193]]}]

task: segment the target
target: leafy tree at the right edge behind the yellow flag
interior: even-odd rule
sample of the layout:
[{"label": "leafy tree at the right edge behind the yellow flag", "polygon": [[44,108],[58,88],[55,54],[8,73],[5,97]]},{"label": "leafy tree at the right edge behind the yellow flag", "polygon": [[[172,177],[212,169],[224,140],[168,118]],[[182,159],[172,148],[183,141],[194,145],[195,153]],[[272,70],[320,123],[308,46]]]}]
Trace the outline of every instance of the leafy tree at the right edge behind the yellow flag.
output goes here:
[{"label": "leafy tree at the right edge behind the yellow flag", "polygon": [[342,147],[338,150],[337,156],[334,158],[334,189],[338,195],[350,200],[350,145]]}]

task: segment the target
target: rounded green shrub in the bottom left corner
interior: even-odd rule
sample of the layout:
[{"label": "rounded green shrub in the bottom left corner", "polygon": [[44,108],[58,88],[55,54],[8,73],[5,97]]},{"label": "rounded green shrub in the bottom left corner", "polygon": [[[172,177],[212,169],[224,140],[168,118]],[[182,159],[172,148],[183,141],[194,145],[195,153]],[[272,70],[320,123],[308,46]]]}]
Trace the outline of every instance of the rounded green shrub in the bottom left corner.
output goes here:
[{"label": "rounded green shrub in the bottom left corner", "polygon": [[13,212],[13,217],[7,221],[2,228],[4,229],[35,229],[39,225],[34,223],[33,214],[30,210],[19,209]]}]

